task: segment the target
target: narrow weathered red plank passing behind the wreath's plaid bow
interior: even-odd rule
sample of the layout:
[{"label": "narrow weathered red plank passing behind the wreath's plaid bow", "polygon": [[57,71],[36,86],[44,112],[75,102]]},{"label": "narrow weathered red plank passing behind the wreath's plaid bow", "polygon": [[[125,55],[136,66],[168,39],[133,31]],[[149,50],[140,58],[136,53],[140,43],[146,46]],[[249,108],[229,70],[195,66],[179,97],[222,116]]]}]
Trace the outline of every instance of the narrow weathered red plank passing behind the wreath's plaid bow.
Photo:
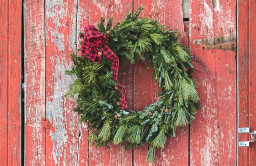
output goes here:
[{"label": "narrow weathered red plank passing behind the wreath's plaid bow", "polygon": [[[78,42],[78,35],[80,32],[83,32],[84,26],[89,24],[89,0],[78,1],[77,8],[77,37],[76,41]],[[80,47],[77,45],[77,47]],[[77,53],[78,56],[81,56],[81,52]],[[75,112],[74,112],[75,113]],[[85,122],[79,122],[79,138],[78,138],[78,165],[89,164],[88,161],[88,130],[87,124]]]}]

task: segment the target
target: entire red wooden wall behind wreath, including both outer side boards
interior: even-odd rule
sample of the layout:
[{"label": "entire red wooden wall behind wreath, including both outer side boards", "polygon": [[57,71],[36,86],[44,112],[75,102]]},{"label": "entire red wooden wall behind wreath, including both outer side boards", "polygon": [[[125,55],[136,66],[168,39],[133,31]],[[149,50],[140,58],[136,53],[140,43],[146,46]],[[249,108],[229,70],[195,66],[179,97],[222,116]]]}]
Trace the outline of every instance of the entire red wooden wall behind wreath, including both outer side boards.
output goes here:
[{"label": "entire red wooden wall behind wreath, including both outer side boards", "polygon": [[[72,66],[69,54],[76,51],[78,33],[84,26],[96,25],[101,17],[113,17],[116,23],[127,12],[144,6],[142,16],[178,29],[181,44],[191,47],[201,103],[193,126],[187,126],[186,133],[179,129],[175,138],[168,139],[166,148],[156,151],[153,165],[234,165],[237,149],[239,165],[255,165],[255,143],[250,148],[237,148],[237,124],[256,130],[256,2],[190,0],[186,22],[183,2],[23,0],[22,19],[22,1],[0,1],[0,131],[6,133],[0,135],[3,164],[21,162],[19,117],[24,51],[26,165],[149,165],[145,161],[146,145],[127,151],[114,145],[99,149],[90,145],[87,124],[79,122],[72,112],[75,102],[64,97],[73,81],[64,73]],[[151,72],[141,61],[120,70],[120,82],[126,86],[131,109],[141,110],[157,100],[159,88],[151,80]],[[239,134],[238,139],[246,140],[248,135]]]}]

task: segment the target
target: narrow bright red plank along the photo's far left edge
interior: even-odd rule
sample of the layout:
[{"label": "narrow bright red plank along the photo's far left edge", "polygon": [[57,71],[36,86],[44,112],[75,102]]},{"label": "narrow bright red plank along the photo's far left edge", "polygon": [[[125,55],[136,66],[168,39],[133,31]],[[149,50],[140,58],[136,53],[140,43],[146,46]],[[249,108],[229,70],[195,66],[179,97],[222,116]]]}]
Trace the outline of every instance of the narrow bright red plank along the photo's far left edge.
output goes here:
[{"label": "narrow bright red plank along the photo's far left edge", "polygon": [[0,1],[0,161],[8,165],[8,2]]}]

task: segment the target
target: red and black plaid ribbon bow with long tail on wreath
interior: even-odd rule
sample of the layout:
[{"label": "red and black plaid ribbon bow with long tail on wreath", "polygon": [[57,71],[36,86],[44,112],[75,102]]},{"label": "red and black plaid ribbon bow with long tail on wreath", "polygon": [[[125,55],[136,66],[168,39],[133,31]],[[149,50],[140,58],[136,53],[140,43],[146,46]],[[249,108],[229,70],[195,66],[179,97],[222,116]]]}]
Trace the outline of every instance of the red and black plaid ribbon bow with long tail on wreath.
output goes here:
[{"label": "red and black plaid ribbon bow with long tail on wreath", "polygon": [[102,56],[98,55],[98,52],[101,51],[103,56],[105,56],[108,61],[112,61],[111,70],[113,72],[113,78],[117,81],[118,85],[122,86],[123,88],[123,95],[120,103],[122,105],[122,110],[125,110],[127,107],[125,100],[126,89],[117,80],[119,59],[117,55],[114,54],[112,50],[105,44],[105,42],[109,40],[109,36],[100,33],[93,25],[85,26],[84,32],[85,34],[81,34],[84,36],[81,46],[82,55],[93,62],[98,63],[102,60]]}]

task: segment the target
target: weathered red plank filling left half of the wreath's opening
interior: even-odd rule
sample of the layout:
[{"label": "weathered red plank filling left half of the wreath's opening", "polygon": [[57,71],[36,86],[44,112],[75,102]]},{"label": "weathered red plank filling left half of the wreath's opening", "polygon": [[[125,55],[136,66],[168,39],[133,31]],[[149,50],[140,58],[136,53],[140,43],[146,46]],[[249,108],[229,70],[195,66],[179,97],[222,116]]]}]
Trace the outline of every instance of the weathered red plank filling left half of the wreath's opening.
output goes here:
[{"label": "weathered red plank filling left half of the wreath's opening", "polygon": [[[122,20],[127,12],[132,11],[132,1],[92,1],[90,4],[89,23],[96,25],[101,17],[106,19],[113,17],[114,24]],[[116,53],[118,56],[118,53]],[[127,90],[126,100],[127,107],[132,108],[132,65],[120,68],[120,83],[125,85]],[[91,165],[132,165],[132,149],[123,150],[120,145],[109,145],[96,149],[89,145],[89,163]]]}]

